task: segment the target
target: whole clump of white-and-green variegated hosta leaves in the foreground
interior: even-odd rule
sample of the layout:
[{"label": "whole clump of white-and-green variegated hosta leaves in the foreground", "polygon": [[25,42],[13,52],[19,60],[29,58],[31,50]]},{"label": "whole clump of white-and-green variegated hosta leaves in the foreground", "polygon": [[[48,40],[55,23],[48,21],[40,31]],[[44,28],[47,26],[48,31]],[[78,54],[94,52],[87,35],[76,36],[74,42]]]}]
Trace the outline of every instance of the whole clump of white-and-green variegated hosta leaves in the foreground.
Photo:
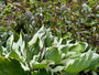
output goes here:
[{"label": "whole clump of white-and-green variegated hosta leaves in the foreground", "polygon": [[51,30],[44,26],[31,41],[26,42],[21,32],[18,42],[11,35],[7,46],[0,49],[0,57],[18,60],[24,73],[26,71],[31,75],[77,75],[99,67],[99,54],[88,49],[87,43],[70,40],[68,35],[53,36]]}]

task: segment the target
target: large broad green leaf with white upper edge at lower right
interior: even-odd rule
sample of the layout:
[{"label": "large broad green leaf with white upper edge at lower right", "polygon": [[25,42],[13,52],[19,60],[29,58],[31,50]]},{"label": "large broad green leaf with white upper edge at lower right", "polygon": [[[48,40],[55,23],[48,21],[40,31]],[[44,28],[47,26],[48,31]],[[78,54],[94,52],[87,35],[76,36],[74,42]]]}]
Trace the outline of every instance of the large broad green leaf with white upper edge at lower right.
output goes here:
[{"label": "large broad green leaf with white upper edge at lower right", "polygon": [[79,58],[77,57],[68,60],[68,62],[66,63],[65,71],[67,73],[77,74],[80,71],[88,68],[92,63],[92,55],[94,55],[92,51],[88,51],[87,53],[81,54]]}]

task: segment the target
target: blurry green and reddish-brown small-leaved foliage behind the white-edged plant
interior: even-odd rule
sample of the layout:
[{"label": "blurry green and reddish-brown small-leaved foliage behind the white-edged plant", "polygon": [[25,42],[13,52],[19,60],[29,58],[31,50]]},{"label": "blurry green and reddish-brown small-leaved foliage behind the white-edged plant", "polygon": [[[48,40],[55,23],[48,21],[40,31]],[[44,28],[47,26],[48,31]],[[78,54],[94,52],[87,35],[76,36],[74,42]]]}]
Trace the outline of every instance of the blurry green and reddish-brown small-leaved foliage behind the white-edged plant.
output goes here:
[{"label": "blurry green and reddish-brown small-leaved foliage behind the white-edged plant", "polygon": [[[31,38],[42,24],[52,28],[54,35],[72,38],[99,45],[99,1],[8,1],[0,6],[0,39],[4,42],[9,35],[21,30]],[[16,33],[15,33],[16,32]]]}]

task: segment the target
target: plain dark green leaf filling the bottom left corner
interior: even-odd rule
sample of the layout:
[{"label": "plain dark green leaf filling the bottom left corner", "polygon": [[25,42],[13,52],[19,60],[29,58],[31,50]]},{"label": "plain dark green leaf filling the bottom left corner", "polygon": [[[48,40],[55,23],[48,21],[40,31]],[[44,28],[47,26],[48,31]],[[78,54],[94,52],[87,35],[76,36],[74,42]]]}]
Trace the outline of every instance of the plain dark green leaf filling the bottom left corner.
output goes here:
[{"label": "plain dark green leaf filling the bottom left corner", "polygon": [[16,60],[0,57],[0,75],[25,75],[25,73]]}]

